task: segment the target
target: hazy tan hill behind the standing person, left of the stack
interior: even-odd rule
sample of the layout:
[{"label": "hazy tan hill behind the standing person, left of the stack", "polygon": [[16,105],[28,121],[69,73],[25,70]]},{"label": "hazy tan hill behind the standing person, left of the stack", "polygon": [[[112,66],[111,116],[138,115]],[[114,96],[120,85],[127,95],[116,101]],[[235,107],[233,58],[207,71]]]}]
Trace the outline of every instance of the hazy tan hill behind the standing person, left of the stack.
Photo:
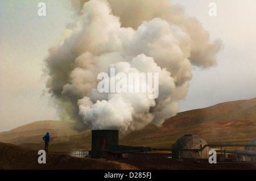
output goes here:
[{"label": "hazy tan hill behind the standing person, left of the stack", "polygon": [[73,123],[67,121],[35,121],[8,132],[0,133],[0,142],[23,145],[29,148],[44,149],[43,136],[49,132],[51,151],[73,151],[90,148],[90,130],[77,132]]}]

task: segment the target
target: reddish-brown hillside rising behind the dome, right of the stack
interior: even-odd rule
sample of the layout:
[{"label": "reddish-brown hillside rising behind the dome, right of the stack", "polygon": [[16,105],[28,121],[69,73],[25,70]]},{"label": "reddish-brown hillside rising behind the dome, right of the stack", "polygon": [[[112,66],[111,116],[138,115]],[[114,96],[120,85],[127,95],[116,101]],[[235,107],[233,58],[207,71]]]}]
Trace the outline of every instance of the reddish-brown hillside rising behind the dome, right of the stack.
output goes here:
[{"label": "reddish-brown hillside rising behind the dome, right of the stack", "polygon": [[170,148],[187,133],[197,134],[208,144],[247,144],[256,137],[256,98],[216,104],[177,113],[162,127],[148,125],[122,138],[129,145]]}]

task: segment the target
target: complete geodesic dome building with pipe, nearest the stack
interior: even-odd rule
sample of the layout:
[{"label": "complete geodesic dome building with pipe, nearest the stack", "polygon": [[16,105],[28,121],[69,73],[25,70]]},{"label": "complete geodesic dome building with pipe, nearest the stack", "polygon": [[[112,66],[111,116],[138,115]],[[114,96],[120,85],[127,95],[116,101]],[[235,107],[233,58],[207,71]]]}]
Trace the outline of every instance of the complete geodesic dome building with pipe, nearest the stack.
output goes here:
[{"label": "complete geodesic dome building with pipe, nearest the stack", "polygon": [[172,145],[172,158],[208,158],[209,147],[207,142],[197,135],[185,134]]}]

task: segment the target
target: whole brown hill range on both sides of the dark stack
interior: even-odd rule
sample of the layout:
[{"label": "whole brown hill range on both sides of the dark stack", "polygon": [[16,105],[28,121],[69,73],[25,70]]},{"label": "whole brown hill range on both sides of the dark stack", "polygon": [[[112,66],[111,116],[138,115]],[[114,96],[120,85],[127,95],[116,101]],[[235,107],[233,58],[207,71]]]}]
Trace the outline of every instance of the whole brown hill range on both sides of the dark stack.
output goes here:
[{"label": "whole brown hill range on both sides of the dark stack", "polygon": [[[36,121],[0,133],[0,142],[43,149],[42,137],[51,135],[51,151],[91,148],[91,133],[73,130],[65,121]],[[147,125],[142,130],[119,136],[119,144],[171,148],[187,133],[197,134],[208,144],[247,144],[256,137],[256,98],[216,104],[211,107],[177,113],[161,127]]]}]

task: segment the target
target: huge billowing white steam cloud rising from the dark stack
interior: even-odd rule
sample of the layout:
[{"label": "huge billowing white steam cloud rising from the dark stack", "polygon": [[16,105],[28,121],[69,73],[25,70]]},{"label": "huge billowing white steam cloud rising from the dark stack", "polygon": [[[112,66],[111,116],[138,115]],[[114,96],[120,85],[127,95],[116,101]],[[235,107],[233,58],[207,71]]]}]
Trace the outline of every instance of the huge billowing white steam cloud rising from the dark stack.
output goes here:
[{"label": "huge billowing white steam cloud rising from the dark stack", "polygon": [[[77,129],[142,129],[161,125],[179,111],[187,95],[192,64],[216,65],[221,42],[196,19],[167,0],[71,1],[74,21],[63,41],[45,59],[46,87],[63,120]],[[101,72],[159,73],[159,96],[148,93],[100,93]]]}]

